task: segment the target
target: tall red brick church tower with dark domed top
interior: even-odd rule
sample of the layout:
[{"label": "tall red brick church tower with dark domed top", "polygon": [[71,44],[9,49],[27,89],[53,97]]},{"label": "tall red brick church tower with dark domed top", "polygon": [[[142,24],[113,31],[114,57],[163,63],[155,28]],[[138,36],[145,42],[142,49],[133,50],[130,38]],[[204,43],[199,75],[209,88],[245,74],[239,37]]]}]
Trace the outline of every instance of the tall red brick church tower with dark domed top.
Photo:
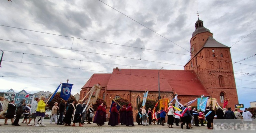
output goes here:
[{"label": "tall red brick church tower with dark domed top", "polygon": [[199,18],[195,28],[190,39],[190,59],[184,69],[196,73],[198,78],[192,80],[201,82],[210,96],[217,98],[220,106],[227,97],[228,107],[233,109],[234,104],[239,103],[230,47],[213,39],[213,34]]}]

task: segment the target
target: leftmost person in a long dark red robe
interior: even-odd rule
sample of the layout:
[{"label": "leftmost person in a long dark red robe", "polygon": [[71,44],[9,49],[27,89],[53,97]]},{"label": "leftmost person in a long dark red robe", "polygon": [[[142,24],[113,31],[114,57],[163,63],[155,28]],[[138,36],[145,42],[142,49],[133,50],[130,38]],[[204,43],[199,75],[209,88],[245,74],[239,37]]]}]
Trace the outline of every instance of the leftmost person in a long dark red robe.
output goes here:
[{"label": "leftmost person in a long dark red robe", "polygon": [[101,103],[97,109],[93,122],[97,123],[98,126],[104,125],[104,120],[106,119],[105,115],[106,110],[103,108],[103,103]]}]

